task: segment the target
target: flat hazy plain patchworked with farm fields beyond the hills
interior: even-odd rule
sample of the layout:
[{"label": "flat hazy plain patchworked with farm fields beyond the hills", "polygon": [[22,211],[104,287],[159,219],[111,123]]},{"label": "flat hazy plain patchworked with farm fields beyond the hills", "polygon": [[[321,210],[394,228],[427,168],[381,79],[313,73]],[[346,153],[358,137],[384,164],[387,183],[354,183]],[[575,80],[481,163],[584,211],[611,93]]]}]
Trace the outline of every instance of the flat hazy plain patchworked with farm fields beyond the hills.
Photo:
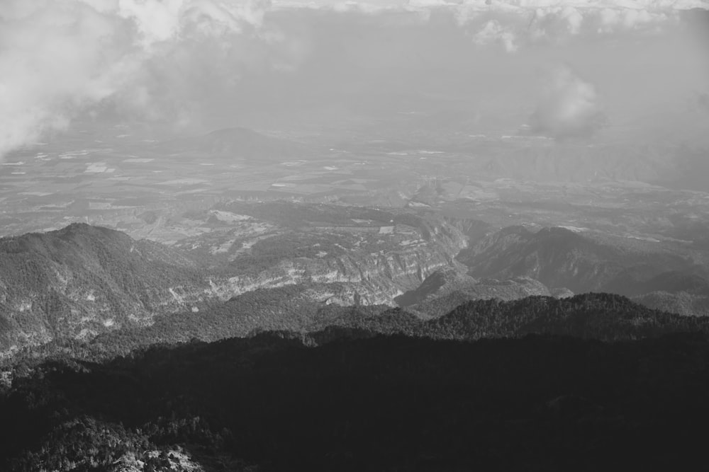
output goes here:
[{"label": "flat hazy plain patchworked with farm fields beyond the hills", "polygon": [[[602,162],[581,179],[542,178],[534,171],[513,175],[487,165],[506,159],[513,149],[548,146],[535,139],[508,144],[468,138],[458,147],[432,150],[386,139],[359,143],[303,136],[296,142],[242,128],[177,143],[97,137],[102,139],[88,149],[77,148],[83,134],[63,137],[17,151],[0,166],[4,235],[82,221],[173,243],[205,232],[194,221],[174,221],[192,209],[290,200],[432,209],[498,228],[569,226],[647,241],[706,242],[709,199],[703,192],[604,175],[598,173]],[[282,149],[289,144],[297,151]]]}]

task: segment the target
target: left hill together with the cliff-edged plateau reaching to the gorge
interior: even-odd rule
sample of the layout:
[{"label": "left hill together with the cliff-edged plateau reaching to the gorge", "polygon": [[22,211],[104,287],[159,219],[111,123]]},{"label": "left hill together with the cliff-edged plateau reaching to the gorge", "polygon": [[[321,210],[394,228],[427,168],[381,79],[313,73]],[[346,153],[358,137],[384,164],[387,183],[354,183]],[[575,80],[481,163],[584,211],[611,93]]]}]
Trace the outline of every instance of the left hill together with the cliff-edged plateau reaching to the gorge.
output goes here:
[{"label": "left hill together with the cliff-edged plateau reaching to the gorge", "polygon": [[[112,330],[150,326],[155,316],[181,311],[203,316],[194,313],[256,289],[291,285],[301,287],[301,297],[313,306],[393,305],[393,297],[450,264],[465,245],[462,231],[437,217],[380,212],[375,217],[386,220],[380,224],[391,225],[396,220],[406,234],[377,236],[379,226],[372,226],[365,228],[373,232],[369,244],[337,232],[337,224],[355,224],[352,218],[371,213],[367,209],[347,218],[337,207],[326,205],[305,206],[300,212],[297,206],[281,208],[278,203],[250,208],[240,210],[255,215],[240,216],[247,219],[247,225],[258,229],[274,219],[279,226],[269,224],[272,231],[267,238],[258,233],[252,239],[247,234],[242,236],[244,242],[235,242],[229,232],[233,223],[216,220],[218,236],[205,237],[207,251],[194,251],[197,243],[187,251],[135,241],[121,231],[88,224],[1,239],[1,349],[16,350],[55,339],[90,340]],[[234,214],[223,211],[220,215]],[[291,217],[295,217],[292,224]],[[334,231],[311,226],[330,218],[336,219],[330,223]],[[407,237],[417,243],[402,245]],[[211,238],[217,238],[216,247],[224,240],[239,249],[232,257],[215,257]],[[240,249],[245,243],[247,248]],[[285,326],[273,326],[296,326],[283,320]],[[256,327],[228,332],[244,335]]]}]

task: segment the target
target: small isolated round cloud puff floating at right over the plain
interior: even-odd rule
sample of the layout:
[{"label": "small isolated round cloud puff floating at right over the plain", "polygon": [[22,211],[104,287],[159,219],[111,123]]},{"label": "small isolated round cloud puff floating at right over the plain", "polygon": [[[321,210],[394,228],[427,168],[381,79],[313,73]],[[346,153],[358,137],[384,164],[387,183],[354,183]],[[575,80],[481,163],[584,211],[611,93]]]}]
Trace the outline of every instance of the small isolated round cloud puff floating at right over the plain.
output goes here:
[{"label": "small isolated round cloud puff floating at right over the plain", "polygon": [[549,74],[540,103],[530,117],[535,134],[557,139],[591,137],[605,122],[596,87],[568,66]]}]

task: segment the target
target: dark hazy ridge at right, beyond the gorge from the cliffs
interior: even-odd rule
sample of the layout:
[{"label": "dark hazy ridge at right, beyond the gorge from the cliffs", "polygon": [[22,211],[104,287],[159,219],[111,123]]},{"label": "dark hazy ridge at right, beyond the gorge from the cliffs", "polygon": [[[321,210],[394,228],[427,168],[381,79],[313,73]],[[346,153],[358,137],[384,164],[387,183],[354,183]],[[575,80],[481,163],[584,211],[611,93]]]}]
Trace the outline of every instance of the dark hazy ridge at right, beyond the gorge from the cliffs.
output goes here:
[{"label": "dark hazy ridge at right, beyond the gorge from the cliffs", "polygon": [[680,255],[615,246],[565,228],[510,226],[462,251],[458,260],[473,277],[532,277],[575,293],[709,290],[705,269]]}]

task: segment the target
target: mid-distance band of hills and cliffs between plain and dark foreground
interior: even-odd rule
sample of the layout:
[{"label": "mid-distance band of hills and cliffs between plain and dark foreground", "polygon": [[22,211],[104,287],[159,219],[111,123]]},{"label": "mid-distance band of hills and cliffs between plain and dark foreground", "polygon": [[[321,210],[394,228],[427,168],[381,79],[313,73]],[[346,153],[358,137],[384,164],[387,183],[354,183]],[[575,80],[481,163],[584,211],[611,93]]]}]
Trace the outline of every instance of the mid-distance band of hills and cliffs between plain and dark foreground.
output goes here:
[{"label": "mid-distance band of hills and cliffs between plain and dark foreground", "polygon": [[[421,321],[440,320],[476,300],[547,297],[552,303],[554,297],[584,292],[620,294],[683,315],[703,314],[709,306],[705,270],[686,255],[648,252],[642,245],[608,243],[564,228],[523,226],[476,236],[476,243],[466,245],[465,225],[396,218],[418,227],[429,242],[396,246],[384,255],[371,255],[363,246],[340,255],[333,243],[332,255],[323,258],[329,250],[321,239],[316,249],[326,251],[316,255],[274,257],[264,247],[213,265],[179,248],[86,224],[3,238],[0,344],[7,352],[50,341],[121,338],[124,331],[138,336],[140,345],[264,329],[312,332],[346,325],[342,313],[379,316],[388,306],[401,306]],[[643,315],[648,316],[656,317]]]}]

